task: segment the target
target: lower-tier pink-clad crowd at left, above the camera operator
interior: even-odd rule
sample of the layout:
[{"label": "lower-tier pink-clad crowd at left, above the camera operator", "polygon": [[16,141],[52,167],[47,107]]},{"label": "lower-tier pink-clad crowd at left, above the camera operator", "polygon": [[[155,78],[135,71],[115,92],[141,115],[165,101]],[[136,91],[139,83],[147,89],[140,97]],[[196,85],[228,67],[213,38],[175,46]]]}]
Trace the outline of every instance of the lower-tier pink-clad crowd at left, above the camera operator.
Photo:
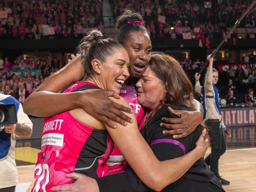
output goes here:
[{"label": "lower-tier pink-clad crowd at left, above the camera operator", "polygon": [[58,69],[59,61],[51,55],[46,60],[28,56],[24,59],[20,55],[13,63],[7,57],[0,58],[0,93],[11,95],[23,103],[45,78]]}]

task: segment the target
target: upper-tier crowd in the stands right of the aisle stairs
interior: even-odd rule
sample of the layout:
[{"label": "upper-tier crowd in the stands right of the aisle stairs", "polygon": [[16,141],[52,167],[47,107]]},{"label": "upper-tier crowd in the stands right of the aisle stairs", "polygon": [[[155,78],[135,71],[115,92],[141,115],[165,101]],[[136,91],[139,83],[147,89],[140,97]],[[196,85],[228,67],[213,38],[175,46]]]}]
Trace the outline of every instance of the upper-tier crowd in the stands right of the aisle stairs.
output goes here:
[{"label": "upper-tier crowd in the stands right of the aisle stairs", "polygon": [[[223,38],[227,28],[247,9],[250,2],[243,0],[215,0],[204,4],[200,0],[111,0],[113,13],[117,17],[127,4],[135,11],[141,12],[146,20],[147,30],[152,38],[182,38],[182,33],[191,33],[192,38]],[[212,8],[211,8],[212,7]],[[214,8],[213,8],[214,7]],[[157,20],[164,16],[165,22]],[[246,15],[239,27],[254,28],[256,8]],[[237,38],[238,30],[232,36]],[[246,31],[247,38],[255,38],[252,31]]]}]

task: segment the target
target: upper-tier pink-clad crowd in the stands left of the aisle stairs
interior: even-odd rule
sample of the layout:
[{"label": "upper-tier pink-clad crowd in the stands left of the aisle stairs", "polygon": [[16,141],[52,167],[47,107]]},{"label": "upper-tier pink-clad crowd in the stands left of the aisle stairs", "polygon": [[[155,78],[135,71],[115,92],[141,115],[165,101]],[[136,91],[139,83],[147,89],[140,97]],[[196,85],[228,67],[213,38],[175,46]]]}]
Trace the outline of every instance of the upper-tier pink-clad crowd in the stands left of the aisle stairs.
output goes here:
[{"label": "upper-tier pink-clad crowd in the stands left of the aisle stairs", "polygon": [[92,28],[104,33],[100,0],[0,0],[0,11],[0,39],[75,39]]}]

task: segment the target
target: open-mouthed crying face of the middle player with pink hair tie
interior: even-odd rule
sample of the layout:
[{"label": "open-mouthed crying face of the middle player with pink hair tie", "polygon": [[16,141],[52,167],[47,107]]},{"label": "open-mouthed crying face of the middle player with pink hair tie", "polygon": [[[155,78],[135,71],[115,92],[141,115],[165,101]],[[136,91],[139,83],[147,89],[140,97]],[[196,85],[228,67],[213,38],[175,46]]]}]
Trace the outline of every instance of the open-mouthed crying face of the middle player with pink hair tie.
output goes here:
[{"label": "open-mouthed crying face of the middle player with pink hair tie", "polygon": [[130,37],[124,42],[124,48],[130,58],[129,72],[132,77],[138,78],[150,61],[152,45],[150,37],[145,32],[132,32],[129,35]]}]

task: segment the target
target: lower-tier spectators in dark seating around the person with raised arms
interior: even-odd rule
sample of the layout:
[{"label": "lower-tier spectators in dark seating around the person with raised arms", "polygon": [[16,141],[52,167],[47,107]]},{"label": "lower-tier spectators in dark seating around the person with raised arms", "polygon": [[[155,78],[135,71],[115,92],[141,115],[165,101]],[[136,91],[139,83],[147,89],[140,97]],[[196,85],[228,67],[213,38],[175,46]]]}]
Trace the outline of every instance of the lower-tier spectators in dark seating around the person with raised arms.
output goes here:
[{"label": "lower-tier spectators in dark seating around the person with raised arms", "polygon": [[[191,59],[185,59],[180,63],[191,77],[204,66],[204,61],[200,62],[199,59],[194,62]],[[256,55],[251,52],[244,57],[242,64],[229,63],[228,66],[227,70],[219,72],[217,87],[220,98],[226,99],[226,104],[232,106],[240,103],[256,104],[256,96],[254,95],[254,90],[256,90]],[[218,65],[215,67],[219,70]],[[203,80],[201,79],[201,81]]]}]

